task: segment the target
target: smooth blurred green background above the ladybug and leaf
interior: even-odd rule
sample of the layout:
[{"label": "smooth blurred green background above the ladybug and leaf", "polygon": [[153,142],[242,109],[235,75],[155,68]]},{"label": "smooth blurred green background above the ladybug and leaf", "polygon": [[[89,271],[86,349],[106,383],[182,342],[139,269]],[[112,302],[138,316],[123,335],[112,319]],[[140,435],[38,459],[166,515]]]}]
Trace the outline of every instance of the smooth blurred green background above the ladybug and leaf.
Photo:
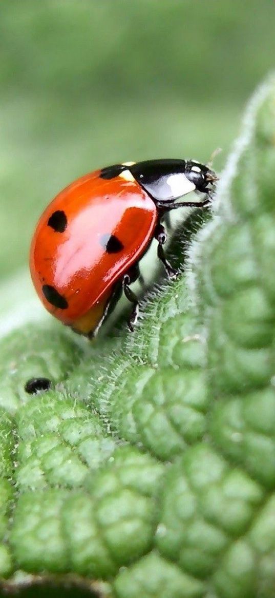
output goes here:
[{"label": "smooth blurred green background above the ladybug and leaf", "polygon": [[1,281],[77,176],[217,147],[220,168],[274,66],[274,17],[274,0],[2,0]]}]

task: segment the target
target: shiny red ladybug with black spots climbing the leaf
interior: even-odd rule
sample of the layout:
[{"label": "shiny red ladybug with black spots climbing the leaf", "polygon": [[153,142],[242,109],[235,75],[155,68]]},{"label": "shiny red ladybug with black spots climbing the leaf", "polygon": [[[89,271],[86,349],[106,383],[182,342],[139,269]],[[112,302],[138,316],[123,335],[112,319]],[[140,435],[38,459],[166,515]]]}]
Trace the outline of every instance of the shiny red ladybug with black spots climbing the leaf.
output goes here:
[{"label": "shiny red ladybug with black spots climbing the leaf", "polygon": [[[30,273],[46,309],[91,337],[123,291],[132,303],[132,330],[138,300],[129,285],[154,238],[167,275],[177,276],[163,251],[163,216],[208,205],[216,180],[196,160],[171,159],[115,164],[72,182],[45,209],[30,248]],[[177,201],[191,191],[205,197]]]}]

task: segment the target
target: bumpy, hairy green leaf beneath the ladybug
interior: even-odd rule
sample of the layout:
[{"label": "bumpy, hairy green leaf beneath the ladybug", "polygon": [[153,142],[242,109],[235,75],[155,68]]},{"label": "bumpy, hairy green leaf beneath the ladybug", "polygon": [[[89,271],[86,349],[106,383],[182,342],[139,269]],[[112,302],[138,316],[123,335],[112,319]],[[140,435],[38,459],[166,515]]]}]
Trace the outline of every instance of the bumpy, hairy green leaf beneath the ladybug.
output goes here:
[{"label": "bumpy, hairy green leaf beneath the ladybug", "polygon": [[[187,273],[133,334],[2,341],[3,588],[73,573],[102,597],[274,598],[274,173],[273,78]],[[54,389],[30,397],[31,376]]]}]

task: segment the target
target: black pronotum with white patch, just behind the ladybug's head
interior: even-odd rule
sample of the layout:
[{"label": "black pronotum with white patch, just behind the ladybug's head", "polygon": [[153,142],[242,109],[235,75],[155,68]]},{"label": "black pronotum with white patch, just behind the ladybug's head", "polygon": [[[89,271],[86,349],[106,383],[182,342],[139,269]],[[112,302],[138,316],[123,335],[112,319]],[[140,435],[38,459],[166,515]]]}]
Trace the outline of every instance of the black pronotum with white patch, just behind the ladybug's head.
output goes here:
[{"label": "black pronotum with white patch, just behind the ladybug's head", "polygon": [[174,202],[196,189],[185,169],[185,160],[148,160],[130,167],[135,180],[157,202]]}]

